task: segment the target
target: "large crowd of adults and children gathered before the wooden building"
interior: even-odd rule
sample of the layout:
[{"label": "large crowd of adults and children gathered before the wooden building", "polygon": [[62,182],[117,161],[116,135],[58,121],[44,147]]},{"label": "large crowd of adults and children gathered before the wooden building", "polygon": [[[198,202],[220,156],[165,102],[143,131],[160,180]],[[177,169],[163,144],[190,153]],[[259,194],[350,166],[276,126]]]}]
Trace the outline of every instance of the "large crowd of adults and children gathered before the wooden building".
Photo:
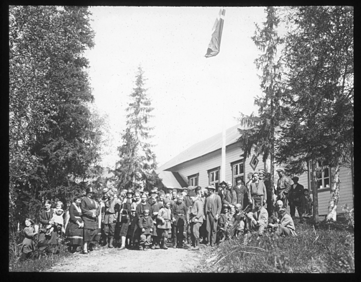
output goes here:
[{"label": "large crowd of adults and children gathered before the wooden building", "polygon": [[[147,251],[186,247],[197,251],[200,243],[214,247],[232,237],[257,232],[262,236],[269,228],[275,236],[296,235],[292,217],[295,210],[302,216],[312,213],[312,199],[308,189],[293,177],[293,184],[284,170],[277,170],[277,188],[270,183],[270,174],[260,169],[248,174],[248,181],[236,179],[236,185],[222,181],[218,191],[213,185],[202,188],[156,187],[148,191],[116,190],[104,188],[95,192],[91,187],[84,194],[77,193],[63,220],[63,204],[46,200],[40,212],[38,248],[41,252],[54,252],[58,234],[65,232],[69,239],[69,252],[80,247],[83,254],[92,251],[100,242],[109,248],[126,247]],[[272,192],[274,189],[274,193]],[[272,195],[274,198],[272,199]],[[287,202],[290,212],[287,211]],[[35,250],[32,238],[37,234],[28,218],[24,229],[22,260]]]}]

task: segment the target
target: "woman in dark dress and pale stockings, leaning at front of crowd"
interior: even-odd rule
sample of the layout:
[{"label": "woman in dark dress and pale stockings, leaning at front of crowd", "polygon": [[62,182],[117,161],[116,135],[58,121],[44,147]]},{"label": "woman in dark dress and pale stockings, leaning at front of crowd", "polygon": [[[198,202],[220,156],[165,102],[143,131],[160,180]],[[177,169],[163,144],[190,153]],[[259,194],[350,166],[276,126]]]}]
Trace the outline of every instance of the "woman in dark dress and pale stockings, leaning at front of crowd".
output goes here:
[{"label": "woman in dark dress and pale stockings, leaning at front of crowd", "polygon": [[128,233],[128,227],[130,223],[130,213],[131,213],[131,204],[132,204],[133,191],[129,189],[127,191],[127,198],[125,198],[121,204],[121,210],[118,215],[117,225],[120,227],[116,228],[117,234],[115,234],[116,239],[122,239],[122,246],[119,250],[125,249],[125,238]]}]

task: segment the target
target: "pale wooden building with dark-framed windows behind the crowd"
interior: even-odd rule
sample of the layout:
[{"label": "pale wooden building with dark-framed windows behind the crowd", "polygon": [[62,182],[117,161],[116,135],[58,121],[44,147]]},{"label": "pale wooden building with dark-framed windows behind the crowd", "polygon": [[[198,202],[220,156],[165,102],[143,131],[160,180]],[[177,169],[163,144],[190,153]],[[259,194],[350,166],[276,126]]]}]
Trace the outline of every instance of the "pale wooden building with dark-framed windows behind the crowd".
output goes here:
[{"label": "pale wooden building with dark-framed windows behind the crowd", "polygon": [[[235,125],[226,130],[226,179],[220,179],[221,175],[221,148],[222,133],[218,133],[208,139],[194,144],[188,149],[175,156],[155,170],[155,173],[163,179],[161,187],[184,187],[187,185],[199,185],[206,187],[210,184],[218,187],[218,184],[225,180],[235,185],[235,179],[242,177],[247,182],[249,172],[258,172],[258,169],[269,170],[270,161],[262,162],[262,157],[253,154],[248,159],[243,159],[237,139],[239,138],[238,128]],[[275,167],[275,170],[277,167]],[[169,174],[171,172],[172,174]],[[169,177],[164,177],[167,174]],[[299,176],[299,183],[310,190],[310,173]],[[171,180],[170,180],[171,179]],[[275,173],[275,186],[277,186],[278,175]],[[342,206],[348,204],[353,207],[353,187],[351,169],[341,168],[340,170],[340,199],[338,203],[338,214],[342,213]],[[318,179],[318,212],[320,216],[327,214],[330,199],[331,170],[322,172]],[[297,212],[296,212],[297,214]]]}]

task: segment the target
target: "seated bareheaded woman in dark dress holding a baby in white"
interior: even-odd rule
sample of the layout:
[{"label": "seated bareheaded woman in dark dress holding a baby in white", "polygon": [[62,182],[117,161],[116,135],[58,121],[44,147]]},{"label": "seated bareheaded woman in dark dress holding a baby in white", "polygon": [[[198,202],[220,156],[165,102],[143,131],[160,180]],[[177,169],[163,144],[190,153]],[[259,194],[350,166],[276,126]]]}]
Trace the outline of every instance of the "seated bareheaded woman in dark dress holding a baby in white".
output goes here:
[{"label": "seated bareheaded woman in dark dress holding a baby in white", "polygon": [[[58,227],[55,225],[54,221],[51,220],[53,217],[53,210],[51,207],[51,201],[45,200],[44,210],[40,211],[40,223],[42,228],[39,230],[38,244],[36,248],[40,251],[40,256],[44,253],[58,253]],[[54,229],[49,235],[45,233],[47,230],[45,227],[51,224]]]}]

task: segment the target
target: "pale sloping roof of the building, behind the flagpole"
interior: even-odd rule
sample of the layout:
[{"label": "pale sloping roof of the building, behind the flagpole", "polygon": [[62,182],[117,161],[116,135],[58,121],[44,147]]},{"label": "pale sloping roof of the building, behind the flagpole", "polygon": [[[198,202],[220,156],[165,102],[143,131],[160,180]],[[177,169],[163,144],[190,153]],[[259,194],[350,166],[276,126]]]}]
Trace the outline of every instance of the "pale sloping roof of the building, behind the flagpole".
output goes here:
[{"label": "pale sloping roof of the building, behind the flagpole", "polygon": [[[237,130],[238,128],[244,129],[244,126],[241,127],[240,124],[237,124],[230,127],[229,129],[226,129],[226,146],[237,142],[237,139],[240,137],[240,134]],[[156,172],[159,173],[162,170],[169,169],[175,165],[182,164],[183,162],[199,158],[221,148],[222,132],[192,145],[179,155],[175,156],[173,159],[166,162],[164,165],[157,168]]]}]

